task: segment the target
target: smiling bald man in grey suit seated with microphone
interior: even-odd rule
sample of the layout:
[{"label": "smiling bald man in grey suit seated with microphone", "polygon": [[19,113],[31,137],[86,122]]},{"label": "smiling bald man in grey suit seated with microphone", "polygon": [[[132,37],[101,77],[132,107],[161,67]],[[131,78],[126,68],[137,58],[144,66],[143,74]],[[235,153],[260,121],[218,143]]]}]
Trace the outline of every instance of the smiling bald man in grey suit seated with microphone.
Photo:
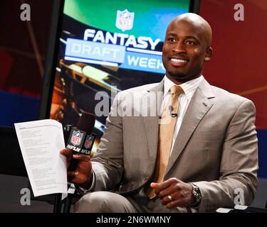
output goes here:
[{"label": "smiling bald man in grey suit seated with microphone", "polygon": [[[194,13],[174,18],[162,82],[117,94],[98,152],[73,155],[80,162],[68,176],[84,194],[75,211],[207,212],[251,204],[258,183],[255,106],[206,82],[211,55],[209,23]],[[70,150],[61,153],[69,165]]]}]

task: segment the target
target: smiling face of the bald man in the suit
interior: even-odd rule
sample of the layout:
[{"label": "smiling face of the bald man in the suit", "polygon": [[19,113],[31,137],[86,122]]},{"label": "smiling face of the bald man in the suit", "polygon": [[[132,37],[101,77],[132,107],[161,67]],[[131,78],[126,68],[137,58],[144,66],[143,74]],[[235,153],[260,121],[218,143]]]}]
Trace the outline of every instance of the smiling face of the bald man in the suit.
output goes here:
[{"label": "smiling face of the bald man in the suit", "polygon": [[187,82],[199,77],[211,57],[209,30],[187,18],[172,21],[167,28],[162,62],[169,79]]}]

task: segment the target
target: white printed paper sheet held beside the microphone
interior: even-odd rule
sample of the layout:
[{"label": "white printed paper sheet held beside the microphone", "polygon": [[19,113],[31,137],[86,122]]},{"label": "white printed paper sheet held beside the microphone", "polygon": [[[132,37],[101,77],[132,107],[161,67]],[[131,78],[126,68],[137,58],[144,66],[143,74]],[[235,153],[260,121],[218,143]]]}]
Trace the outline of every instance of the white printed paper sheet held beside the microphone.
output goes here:
[{"label": "white printed paper sheet held beside the microphone", "polygon": [[34,196],[68,194],[62,124],[46,119],[15,123],[16,135]]}]

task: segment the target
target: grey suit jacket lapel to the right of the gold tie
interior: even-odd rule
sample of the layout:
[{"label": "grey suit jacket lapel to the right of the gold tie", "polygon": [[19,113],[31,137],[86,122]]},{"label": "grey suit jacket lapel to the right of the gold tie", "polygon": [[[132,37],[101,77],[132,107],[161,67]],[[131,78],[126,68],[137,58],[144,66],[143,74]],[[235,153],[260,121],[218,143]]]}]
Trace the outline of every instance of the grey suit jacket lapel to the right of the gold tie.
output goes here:
[{"label": "grey suit jacket lapel to the right of the gold tie", "polygon": [[[172,154],[169,157],[169,163],[166,170],[166,175],[169,170],[171,170],[174,162],[179,158],[179,155],[184,150],[185,145],[187,145],[192,133],[199,125],[201,119],[205,116],[206,112],[211,109],[213,102],[210,100],[214,98],[214,94],[211,91],[211,86],[205,79],[199,84],[192,100],[187,108],[184,115],[181,128],[175,140]],[[165,175],[165,176],[166,176]]]}]

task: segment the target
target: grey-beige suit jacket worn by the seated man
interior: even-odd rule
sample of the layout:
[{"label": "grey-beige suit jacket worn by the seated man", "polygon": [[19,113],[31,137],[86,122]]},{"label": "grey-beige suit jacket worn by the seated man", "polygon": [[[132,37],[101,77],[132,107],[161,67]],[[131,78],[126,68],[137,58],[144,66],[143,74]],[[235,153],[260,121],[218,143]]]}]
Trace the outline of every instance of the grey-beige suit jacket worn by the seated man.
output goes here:
[{"label": "grey-beige suit jacket worn by the seated man", "polygon": [[[142,109],[151,94],[157,98],[150,99],[148,111],[159,107],[162,92],[163,81],[117,94],[92,159],[95,191],[118,187],[120,194],[138,192],[149,181],[157,157],[159,117],[154,112],[147,116]],[[123,116],[129,111],[139,116]],[[233,207],[239,198],[251,204],[258,183],[254,122],[250,100],[203,79],[182,121],[164,179],[196,184],[202,195],[200,212]]]}]

